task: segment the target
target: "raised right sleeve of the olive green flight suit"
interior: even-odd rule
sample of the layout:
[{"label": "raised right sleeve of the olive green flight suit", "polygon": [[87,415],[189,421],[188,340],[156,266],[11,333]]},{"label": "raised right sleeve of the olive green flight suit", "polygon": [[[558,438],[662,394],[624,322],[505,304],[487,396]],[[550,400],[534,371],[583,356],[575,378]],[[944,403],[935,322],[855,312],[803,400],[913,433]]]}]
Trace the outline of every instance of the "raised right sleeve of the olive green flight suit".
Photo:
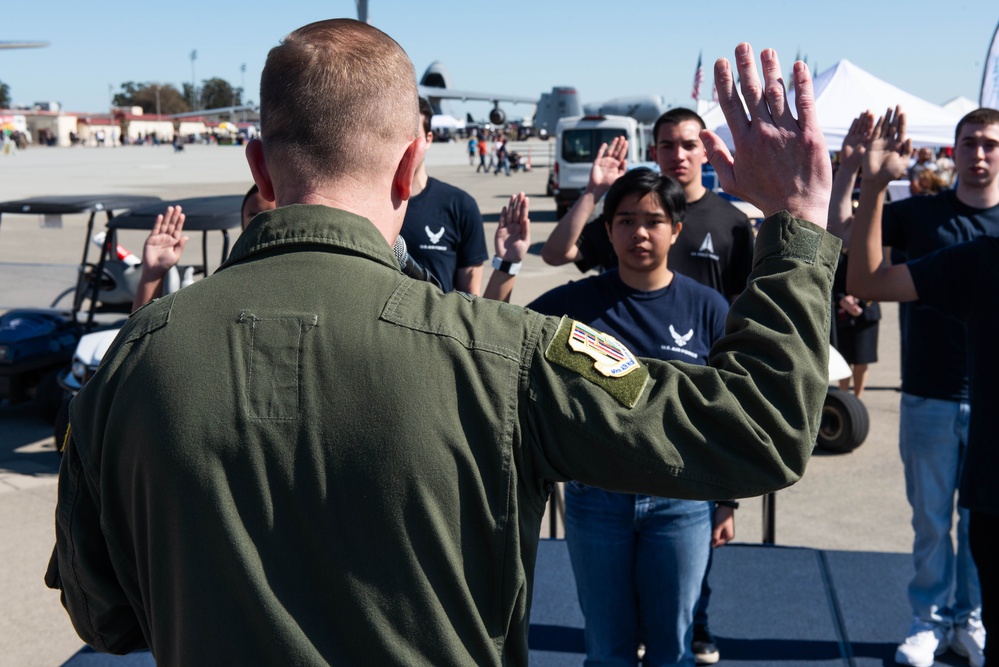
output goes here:
[{"label": "raised right sleeve of the olive green flight suit", "polygon": [[839,247],[786,212],[767,219],[749,284],[709,365],[641,359],[648,380],[637,395],[628,395],[634,387],[613,388],[633,374],[595,381],[552,362],[549,348],[564,345],[557,337],[565,327],[547,321],[525,360],[524,445],[534,448],[535,473],[692,499],[756,496],[793,484],[811,454],[828,386]]}]

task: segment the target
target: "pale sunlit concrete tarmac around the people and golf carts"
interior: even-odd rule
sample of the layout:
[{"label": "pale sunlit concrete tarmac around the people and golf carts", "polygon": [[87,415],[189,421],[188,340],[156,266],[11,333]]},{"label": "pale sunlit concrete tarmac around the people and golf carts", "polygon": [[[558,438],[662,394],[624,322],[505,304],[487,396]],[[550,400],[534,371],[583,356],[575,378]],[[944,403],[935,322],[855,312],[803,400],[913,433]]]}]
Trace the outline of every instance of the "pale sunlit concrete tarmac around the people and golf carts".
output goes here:
[{"label": "pale sunlit concrete tarmac around the people and golf carts", "polygon": [[[534,170],[476,174],[463,142],[435,144],[428,153],[431,176],[469,191],[482,210],[492,253],[499,211],[510,194],[531,197],[532,241],[540,244],[555,222],[554,200],[544,196],[552,142],[511,144],[530,152]],[[189,146],[32,148],[0,156],[0,201],[30,196],[127,193],[164,199],[242,194],[251,183],[242,149]],[[66,216],[59,229],[42,228],[39,216],[0,219],[0,312],[47,307],[74,284],[84,244],[85,216]],[[95,224],[99,229],[102,223]],[[144,234],[120,242],[141,254]],[[192,242],[197,243],[194,239]],[[213,239],[212,243],[216,243]],[[200,243],[198,243],[200,245]],[[210,245],[210,257],[217,256]],[[195,249],[197,251],[197,249]],[[188,249],[191,252],[191,249]],[[491,271],[486,267],[485,280]],[[568,280],[575,267],[549,267],[537,254],[524,263],[513,302],[526,304]],[[485,280],[483,284],[485,284]],[[845,455],[817,453],[801,482],[777,494],[777,543],[845,551],[908,552],[912,543],[902,466],[897,453],[899,341],[897,308],[883,305],[881,361],[871,367],[864,403],[870,413],[867,441]],[[42,576],[54,541],[58,458],[50,427],[31,406],[0,404],[0,666],[58,665],[82,646],[58,593]],[[742,501],[737,539],[761,540],[762,503]],[[780,573],[775,573],[780,576]],[[899,639],[908,627],[899,618]]]}]

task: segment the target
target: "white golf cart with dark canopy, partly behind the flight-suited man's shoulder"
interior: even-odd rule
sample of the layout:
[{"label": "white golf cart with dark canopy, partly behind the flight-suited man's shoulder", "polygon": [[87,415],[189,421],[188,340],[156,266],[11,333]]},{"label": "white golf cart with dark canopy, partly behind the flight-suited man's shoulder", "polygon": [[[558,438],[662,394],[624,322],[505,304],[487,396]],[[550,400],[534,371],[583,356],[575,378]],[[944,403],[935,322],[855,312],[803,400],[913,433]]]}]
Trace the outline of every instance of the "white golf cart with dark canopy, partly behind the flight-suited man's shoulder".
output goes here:
[{"label": "white golf cart with dark canopy, partly behind the flight-suited man's shoulder", "polygon": [[[118,250],[118,233],[122,230],[142,230],[149,231],[156,223],[156,216],[166,210],[167,206],[182,207],[185,215],[184,233],[201,232],[201,263],[194,265],[178,265],[173,267],[164,277],[163,293],[170,294],[181,287],[184,287],[195,280],[198,276],[209,274],[208,260],[208,240],[211,232],[219,232],[222,237],[221,257],[218,265],[221,265],[229,256],[230,229],[239,229],[241,224],[240,206],[243,202],[243,195],[221,195],[214,197],[195,197],[191,199],[179,199],[175,201],[157,201],[154,204],[136,207],[124,215],[116,216],[108,220],[105,232],[101,256],[97,264],[93,265],[91,275],[103,276],[104,283],[88,280],[82,291],[77,289],[75,302],[85,301],[88,304],[85,324],[82,325],[88,333],[83,335],[76,350],[72,355],[72,364],[58,375],[59,386],[65,392],[62,401],[62,409],[56,419],[55,434],[56,442],[59,443],[65,433],[68,421],[69,399],[93,376],[100,365],[101,359],[110,347],[111,342],[121,329],[123,320],[117,320],[106,324],[100,328],[94,327],[95,316],[103,312],[115,312],[122,305],[126,310],[119,312],[128,313],[131,311],[132,301],[135,297],[135,286],[138,274],[141,272],[141,265],[125,266],[125,262],[118,258],[121,251]],[[192,234],[193,236],[193,234]],[[191,252],[190,249],[187,251]],[[216,268],[217,266],[216,265]],[[134,274],[136,283],[133,284],[131,277]],[[120,278],[119,278],[120,276]],[[113,284],[107,284],[111,280]],[[127,289],[124,294],[118,295],[121,284],[125,284]],[[106,289],[106,288],[110,288]],[[115,295],[110,303],[105,303],[105,295]],[[124,297],[121,298],[121,297]],[[127,304],[119,301],[127,299]]]}]

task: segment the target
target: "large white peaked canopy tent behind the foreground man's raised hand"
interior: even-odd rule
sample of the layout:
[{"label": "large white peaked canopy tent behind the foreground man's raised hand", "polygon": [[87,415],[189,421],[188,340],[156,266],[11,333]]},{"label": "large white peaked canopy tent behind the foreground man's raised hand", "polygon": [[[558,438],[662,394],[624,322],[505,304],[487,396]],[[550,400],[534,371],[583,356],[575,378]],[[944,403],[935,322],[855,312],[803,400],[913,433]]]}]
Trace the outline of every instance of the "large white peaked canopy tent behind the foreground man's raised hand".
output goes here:
[{"label": "large white peaked canopy tent behind the foreground man's raised hand", "polygon": [[[907,93],[845,59],[815,77],[814,85],[819,122],[832,151],[839,150],[850,123],[865,110],[880,116],[889,107],[900,105],[906,116],[906,134],[916,146],[952,146],[954,128],[963,115]],[[794,109],[793,92],[789,98]],[[721,124],[715,132],[732,146],[728,125]]]}]

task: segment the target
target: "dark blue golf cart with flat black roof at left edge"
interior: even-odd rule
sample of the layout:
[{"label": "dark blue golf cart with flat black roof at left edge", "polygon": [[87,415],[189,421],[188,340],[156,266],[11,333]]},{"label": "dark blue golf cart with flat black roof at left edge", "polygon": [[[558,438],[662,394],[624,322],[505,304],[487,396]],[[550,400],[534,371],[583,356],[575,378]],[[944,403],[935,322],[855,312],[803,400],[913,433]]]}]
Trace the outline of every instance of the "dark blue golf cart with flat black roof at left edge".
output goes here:
[{"label": "dark blue golf cart with flat black roof at left edge", "polygon": [[[86,246],[89,246],[94,220],[99,213],[103,212],[111,221],[115,211],[158,201],[158,197],[137,195],[33,197],[0,203],[0,218],[5,213],[42,215],[45,226],[58,228],[63,215],[89,213],[86,234]],[[84,266],[88,249],[84,248]],[[77,292],[83,281],[84,272],[81,271],[75,288]],[[56,416],[61,402],[56,373],[69,363],[83,332],[77,313],[76,304],[67,311],[58,309],[57,303],[53,303],[47,309],[18,308],[0,316],[0,400],[21,402],[33,398],[43,418],[51,421]]]}]

